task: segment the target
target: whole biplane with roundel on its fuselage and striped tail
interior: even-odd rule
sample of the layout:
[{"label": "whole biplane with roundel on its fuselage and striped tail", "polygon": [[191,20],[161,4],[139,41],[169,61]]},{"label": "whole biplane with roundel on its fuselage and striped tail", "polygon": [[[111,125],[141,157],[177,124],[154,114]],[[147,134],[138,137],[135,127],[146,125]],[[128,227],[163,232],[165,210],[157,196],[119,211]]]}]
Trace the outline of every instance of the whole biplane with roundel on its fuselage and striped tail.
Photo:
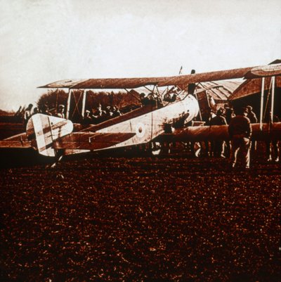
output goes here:
[{"label": "whole biplane with roundel on its fuselage and striped tail", "polygon": [[[203,141],[228,139],[227,126],[186,126],[200,115],[196,86],[201,82],[223,79],[261,79],[261,112],[265,79],[281,75],[281,63],[253,68],[239,68],[174,77],[138,77],[116,79],[68,79],[40,86],[46,89],[68,89],[66,118],[32,115],[26,132],[0,141],[0,147],[34,148],[41,155],[55,157],[87,151],[138,146],[155,141]],[[274,82],[273,82],[274,84]],[[75,89],[82,89],[82,115],[85,112],[89,89],[125,89],[133,94],[145,87],[150,93],[143,105],[129,113],[99,124],[77,129],[69,119],[70,97]],[[159,89],[162,87],[164,91]],[[273,88],[274,89],[274,88]],[[140,99],[143,98],[140,96]],[[274,95],[272,95],[273,101]],[[271,113],[273,115],[273,113]],[[280,139],[281,123],[253,124],[255,139]]]}]

